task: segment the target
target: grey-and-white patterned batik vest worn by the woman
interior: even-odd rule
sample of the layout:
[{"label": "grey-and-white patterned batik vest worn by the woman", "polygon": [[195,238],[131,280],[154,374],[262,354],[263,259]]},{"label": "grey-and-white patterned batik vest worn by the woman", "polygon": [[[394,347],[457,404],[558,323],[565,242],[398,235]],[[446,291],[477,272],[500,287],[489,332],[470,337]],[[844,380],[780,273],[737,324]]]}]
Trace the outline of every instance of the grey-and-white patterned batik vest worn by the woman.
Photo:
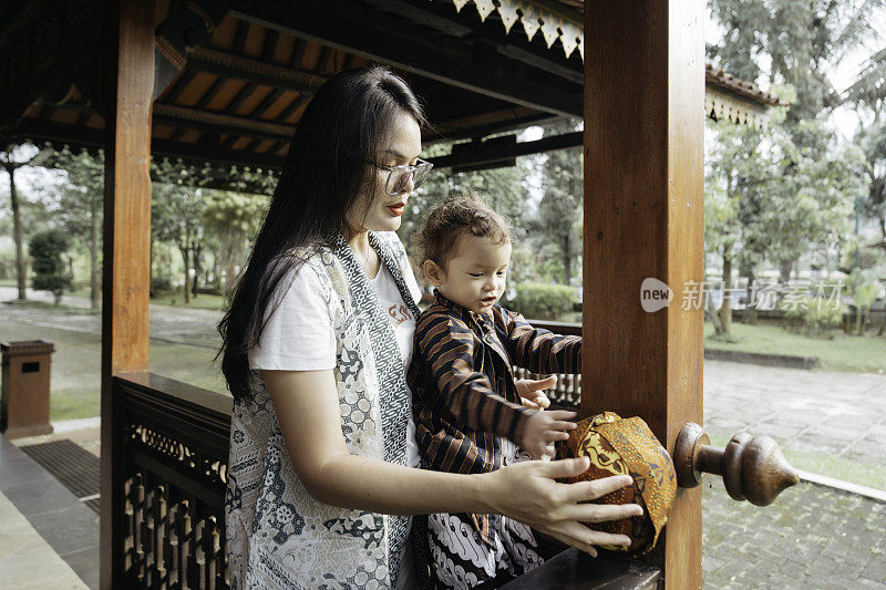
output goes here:
[{"label": "grey-and-white patterned batik vest worn by the woman", "polygon": [[[395,337],[374,288],[341,236],[306,260],[321,286],[337,340],[342,435],[348,452],[406,464],[410,394]],[[392,235],[370,234],[403,301],[419,310]],[[403,267],[405,268],[405,267]],[[235,397],[225,498],[231,588],[394,587],[409,517],[317,501],[298,479],[261,373]]]}]

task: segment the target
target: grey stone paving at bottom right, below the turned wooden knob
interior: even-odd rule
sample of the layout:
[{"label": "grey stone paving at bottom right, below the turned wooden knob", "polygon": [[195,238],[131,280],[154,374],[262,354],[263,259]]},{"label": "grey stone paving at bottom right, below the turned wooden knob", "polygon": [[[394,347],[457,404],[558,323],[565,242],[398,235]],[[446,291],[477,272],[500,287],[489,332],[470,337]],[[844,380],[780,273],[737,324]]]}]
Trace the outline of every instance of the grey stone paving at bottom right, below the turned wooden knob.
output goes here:
[{"label": "grey stone paving at bottom right, below the turned wooden knob", "polygon": [[702,485],[705,589],[886,590],[886,504],[801,483],[760,508]]}]

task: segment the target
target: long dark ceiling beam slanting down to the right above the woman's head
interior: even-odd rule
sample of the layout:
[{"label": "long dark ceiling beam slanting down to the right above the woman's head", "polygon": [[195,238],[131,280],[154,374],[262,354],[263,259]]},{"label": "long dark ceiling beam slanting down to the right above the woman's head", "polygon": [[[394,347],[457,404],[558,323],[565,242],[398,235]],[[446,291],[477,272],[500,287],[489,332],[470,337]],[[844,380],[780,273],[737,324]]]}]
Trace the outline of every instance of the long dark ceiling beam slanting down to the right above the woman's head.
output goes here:
[{"label": "long dark ceiling beam slanting down to the right above the woman's head", "polygon": [[[446,51],[453,49],[452,44],[447,45],[441,35],[410,31],[403,21],[356,3],[326,0],[322,4],[303,2],[293,7],[256,0],[231,13],[243,20],[509,103],[555,115],[581,116],[583,113],[580,87],[569,92],[513,74],[514,61],[493,52],[486,52],[478,62],[465,60],[464,55]],[[463,43],[462,49],[476,48]]]}]

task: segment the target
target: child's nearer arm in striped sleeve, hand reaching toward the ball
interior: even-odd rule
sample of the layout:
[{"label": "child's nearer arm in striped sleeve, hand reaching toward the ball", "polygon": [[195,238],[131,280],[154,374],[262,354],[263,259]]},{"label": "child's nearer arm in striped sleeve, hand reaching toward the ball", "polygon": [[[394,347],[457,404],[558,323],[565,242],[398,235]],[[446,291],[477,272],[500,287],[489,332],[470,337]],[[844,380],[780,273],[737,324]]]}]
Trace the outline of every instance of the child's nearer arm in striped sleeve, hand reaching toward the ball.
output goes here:
[{"label": "child's nearer arm in striped sleeve, hand reaching toward the ball", "polygon": [[436,397],[429,402],[456,424],[509,438],[534,458],[575,428],[567,422],[574,412],[537,412],[496,393],[474,368],[474,333],[456,319],[435,314],[420,321],[415,342],[436,384]]}]

